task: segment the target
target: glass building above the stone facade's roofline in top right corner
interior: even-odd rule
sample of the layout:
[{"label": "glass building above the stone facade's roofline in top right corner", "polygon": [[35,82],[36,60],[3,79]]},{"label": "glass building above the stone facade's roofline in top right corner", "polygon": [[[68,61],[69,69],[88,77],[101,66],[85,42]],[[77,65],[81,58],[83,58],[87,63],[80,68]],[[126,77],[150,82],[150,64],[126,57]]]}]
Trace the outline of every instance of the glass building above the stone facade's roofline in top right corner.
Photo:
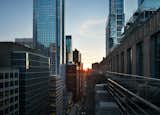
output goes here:
[{"label": "glass building above the stone facade's roofline in top right corner", "polygon": [[127,22],[121,42],[125,38],[125,34],[130,31],[133,26],[145,23],[160,8],[160,0],[138,0],[138,8]]}]

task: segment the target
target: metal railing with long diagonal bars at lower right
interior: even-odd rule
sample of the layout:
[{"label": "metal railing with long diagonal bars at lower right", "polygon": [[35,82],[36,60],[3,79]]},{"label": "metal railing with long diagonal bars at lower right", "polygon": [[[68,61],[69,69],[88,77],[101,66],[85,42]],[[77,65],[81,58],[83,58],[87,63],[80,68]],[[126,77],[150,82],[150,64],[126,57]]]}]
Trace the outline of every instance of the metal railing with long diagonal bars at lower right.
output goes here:
[{"label": "metal railing with long diagonal bars at lower right", "polygon": [[124,115],[160,115],[160,79],[106,72],[107,90]]}]

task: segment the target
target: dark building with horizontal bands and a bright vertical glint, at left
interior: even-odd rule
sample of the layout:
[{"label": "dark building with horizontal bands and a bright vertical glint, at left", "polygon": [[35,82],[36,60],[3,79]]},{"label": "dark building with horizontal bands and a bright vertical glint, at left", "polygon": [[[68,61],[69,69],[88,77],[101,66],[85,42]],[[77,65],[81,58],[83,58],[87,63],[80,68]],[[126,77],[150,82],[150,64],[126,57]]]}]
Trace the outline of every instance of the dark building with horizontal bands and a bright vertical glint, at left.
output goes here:
[{"label": "dark building with horizontal bands and a bright vertical glint, at left", "polygon": [[19,71],[19,115],[48,115],[49,58],[12,42],[0,42],[0,55],[0,68]]}]

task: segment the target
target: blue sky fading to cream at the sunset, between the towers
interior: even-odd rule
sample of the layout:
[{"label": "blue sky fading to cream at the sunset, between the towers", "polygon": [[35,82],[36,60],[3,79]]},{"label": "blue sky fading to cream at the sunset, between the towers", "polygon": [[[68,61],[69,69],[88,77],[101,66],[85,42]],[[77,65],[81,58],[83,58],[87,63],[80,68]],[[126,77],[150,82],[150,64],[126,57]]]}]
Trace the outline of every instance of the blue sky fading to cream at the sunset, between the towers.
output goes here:
[{"label": "blue sky fading to cream at the sunset, between the towers", "polygon": [[[0,0],[0,41],[32,38],[33,0]],[[73,50],[82,53],[84,68],[105,56],[105,24],[109,0],[66,0],[65,32],[72,35]],[[125,0],[126,22],[137,0]]]}]

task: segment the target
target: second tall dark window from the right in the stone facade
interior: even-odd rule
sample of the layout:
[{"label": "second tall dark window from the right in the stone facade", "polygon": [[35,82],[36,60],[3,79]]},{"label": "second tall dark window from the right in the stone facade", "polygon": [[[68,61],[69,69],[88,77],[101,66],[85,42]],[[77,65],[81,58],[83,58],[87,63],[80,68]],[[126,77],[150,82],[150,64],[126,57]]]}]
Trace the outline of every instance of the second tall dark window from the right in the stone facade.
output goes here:
[{"label": "second tall dark window from the right in the stone facade", "polygon": [[138,43],[136,49],[136,73],[143,75],[143,42]]}]

